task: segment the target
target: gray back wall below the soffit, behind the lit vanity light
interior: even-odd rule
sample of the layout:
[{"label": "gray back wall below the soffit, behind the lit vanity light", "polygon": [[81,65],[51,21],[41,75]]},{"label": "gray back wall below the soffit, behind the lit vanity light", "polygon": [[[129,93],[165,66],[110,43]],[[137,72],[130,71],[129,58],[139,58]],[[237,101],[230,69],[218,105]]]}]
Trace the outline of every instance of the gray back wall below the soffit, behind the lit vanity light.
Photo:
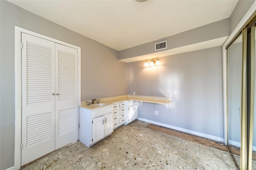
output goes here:
[{"label": "gray back wall below the soffit, behind the lit vanity light", "polygon": [[128,63],[128,94],[172,93],[172,103],[140,103],[140,118],[224,138],[222,47],[161,57],[160,66],[144,62]]}]

